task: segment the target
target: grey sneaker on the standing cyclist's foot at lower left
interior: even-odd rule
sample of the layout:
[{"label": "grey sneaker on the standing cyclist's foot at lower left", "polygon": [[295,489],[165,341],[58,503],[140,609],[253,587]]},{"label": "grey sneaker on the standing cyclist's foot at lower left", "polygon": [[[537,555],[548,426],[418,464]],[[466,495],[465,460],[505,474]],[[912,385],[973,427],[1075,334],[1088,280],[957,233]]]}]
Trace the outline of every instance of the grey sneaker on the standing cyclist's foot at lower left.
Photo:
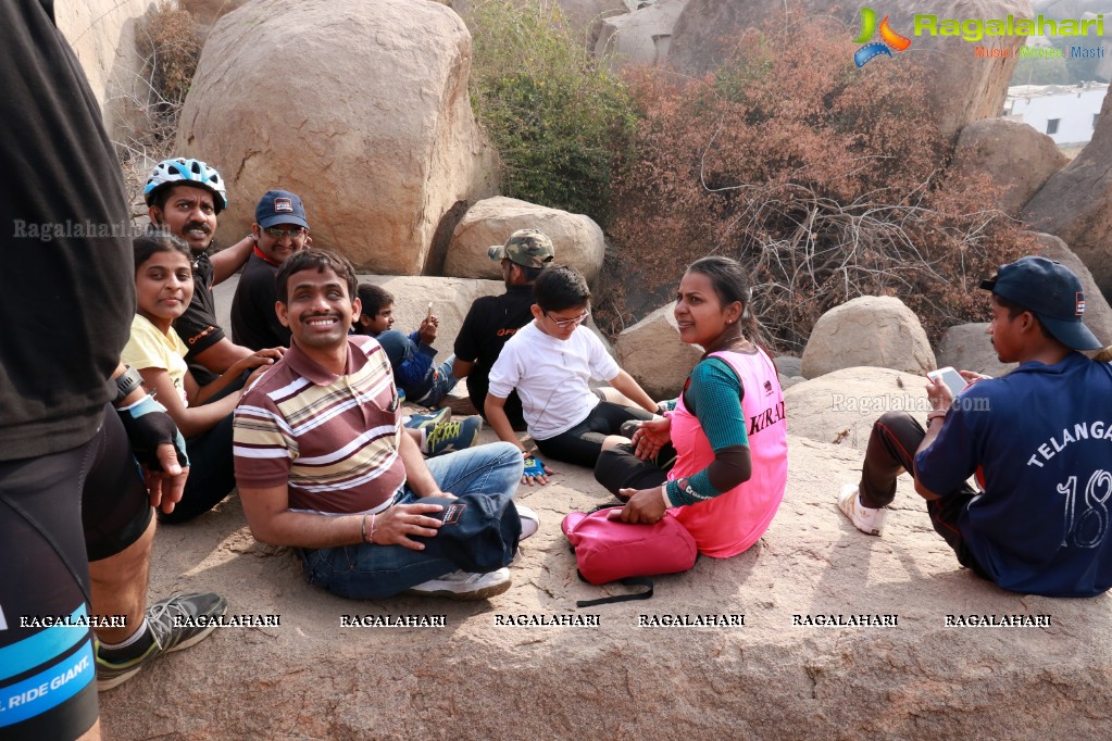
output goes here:
[{"label": "grey sneaker on the standing cyclist's foot at lower left", "polygon": [[[100,645],[97,645],[97,690],[103,692],[119,687],[163,653],[200,642],[216,629],[216,619],[227,610],[227,600],[215,592],[177,594],[155,602],[147,608],[147,625],[155,642],[142,655],[115,663],[101,659]],[[183,625],[176,625],[175,618]]]}]

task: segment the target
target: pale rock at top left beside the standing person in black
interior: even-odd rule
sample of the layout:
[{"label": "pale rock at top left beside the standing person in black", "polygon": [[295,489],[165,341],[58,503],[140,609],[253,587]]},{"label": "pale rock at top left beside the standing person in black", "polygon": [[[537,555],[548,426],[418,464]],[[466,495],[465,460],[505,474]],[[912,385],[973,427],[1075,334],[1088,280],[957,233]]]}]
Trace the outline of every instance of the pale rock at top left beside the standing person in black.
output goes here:
[{"label": "pale rock at top left beside the standing person in black", "polygon": [[136,49],[136,24],[148,0],[57,0],[58,30],[73,47],[97,97],[108,133],[121,139],[128,99],[142,94],[142,59]]}]

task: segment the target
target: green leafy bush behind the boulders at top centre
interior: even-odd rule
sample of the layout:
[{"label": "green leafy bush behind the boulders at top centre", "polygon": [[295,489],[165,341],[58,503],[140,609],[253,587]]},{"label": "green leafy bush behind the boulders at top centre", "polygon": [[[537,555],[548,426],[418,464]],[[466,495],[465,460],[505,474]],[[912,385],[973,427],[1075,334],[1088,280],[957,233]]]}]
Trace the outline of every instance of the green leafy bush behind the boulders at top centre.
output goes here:
[{"label": "green leafy bush behind the boulders at top centre", "polygon": [[576,41],[554,2],[475,2],[465,20],[471,103],[502,158],[503,194],[605,224],[633,126],[620,80]]}]

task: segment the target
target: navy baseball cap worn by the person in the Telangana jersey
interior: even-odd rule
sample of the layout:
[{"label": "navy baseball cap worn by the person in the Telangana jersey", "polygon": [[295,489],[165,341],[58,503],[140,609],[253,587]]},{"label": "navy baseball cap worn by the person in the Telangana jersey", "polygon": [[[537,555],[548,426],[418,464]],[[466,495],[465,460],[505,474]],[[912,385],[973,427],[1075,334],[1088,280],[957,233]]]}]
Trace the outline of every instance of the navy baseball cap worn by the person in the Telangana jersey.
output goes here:
[{"label": "navy baseball cap worn by the person in the Telangana jersey", "polygon": [[1051,336],[1074,350],[1098,350],[1103,343],[1081,321],[1085,292],[1072,270],[1046,258],[1025,257],[1001,266],[981,288],[1030,310]]}]

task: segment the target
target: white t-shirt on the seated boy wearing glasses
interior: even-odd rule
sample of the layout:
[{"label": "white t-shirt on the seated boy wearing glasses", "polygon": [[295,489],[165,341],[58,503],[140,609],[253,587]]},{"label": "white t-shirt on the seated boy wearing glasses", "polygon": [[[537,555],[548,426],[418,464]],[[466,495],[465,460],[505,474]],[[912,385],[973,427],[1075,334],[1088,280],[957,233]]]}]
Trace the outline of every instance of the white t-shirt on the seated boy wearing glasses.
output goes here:
[{"label": "white t-shirt on the seated boy wearing glasses", "polygon": [[529,434],[547,440],[587,419],[599,399],[587,381],[613,380],[622,369],[584,326],[557,340],[529,322],[506,342],[490,369],[490,393],[517,389]]}]

